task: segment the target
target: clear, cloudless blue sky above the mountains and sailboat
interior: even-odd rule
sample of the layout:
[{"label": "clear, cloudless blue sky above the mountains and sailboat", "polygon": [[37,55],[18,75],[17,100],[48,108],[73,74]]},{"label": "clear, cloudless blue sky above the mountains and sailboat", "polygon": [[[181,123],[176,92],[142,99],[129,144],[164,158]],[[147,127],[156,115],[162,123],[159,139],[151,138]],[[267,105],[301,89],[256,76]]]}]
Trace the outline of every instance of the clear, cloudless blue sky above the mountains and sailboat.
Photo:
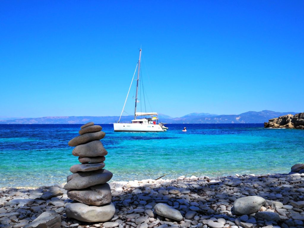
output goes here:
[{"label": "clear, cloudless blue sky above the mountains and sailboat", "polygon": [[1,1],[0,34],[0,116],[118,116],[140,46],[154,112],[304,111],[304,1]]}]

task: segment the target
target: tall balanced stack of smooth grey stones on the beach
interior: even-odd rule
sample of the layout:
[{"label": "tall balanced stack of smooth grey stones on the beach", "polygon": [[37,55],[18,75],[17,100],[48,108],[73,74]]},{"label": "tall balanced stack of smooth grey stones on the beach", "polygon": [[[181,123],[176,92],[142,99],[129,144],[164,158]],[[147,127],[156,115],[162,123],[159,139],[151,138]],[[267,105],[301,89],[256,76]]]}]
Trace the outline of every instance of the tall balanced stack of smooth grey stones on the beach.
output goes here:
[{"label": "tall balanced stack of smooth grey stones on the beach", "polygon": [[105,155],[108,152],[100,141],[105,133],[102,127],[93,122],[81,126],[80,136],[69,141],[72,151],[78,156],[81,164],[71,166],[73,173],[67,177],[67,196],[74,201],[67,203],[65,213],[67,217],[83,222],[105,222],[115,213],[115,206],[111,202],[111,189],[107,181],[113,174],[103,169]]}]

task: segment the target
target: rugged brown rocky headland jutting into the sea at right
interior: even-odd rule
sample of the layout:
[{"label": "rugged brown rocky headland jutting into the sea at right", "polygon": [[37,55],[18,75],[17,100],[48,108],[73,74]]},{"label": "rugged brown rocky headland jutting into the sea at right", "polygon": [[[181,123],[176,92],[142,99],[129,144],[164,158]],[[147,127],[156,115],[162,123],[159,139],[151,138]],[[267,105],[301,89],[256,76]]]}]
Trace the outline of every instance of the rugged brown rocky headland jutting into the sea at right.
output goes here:
[{"label": "rugged brown rocky headland jutting into the sea at right", "polygon": [[304,112],[292,115],[288,114],[278,118],[269,119],[264,123],[265,128],[296,128],[304,129]]}]

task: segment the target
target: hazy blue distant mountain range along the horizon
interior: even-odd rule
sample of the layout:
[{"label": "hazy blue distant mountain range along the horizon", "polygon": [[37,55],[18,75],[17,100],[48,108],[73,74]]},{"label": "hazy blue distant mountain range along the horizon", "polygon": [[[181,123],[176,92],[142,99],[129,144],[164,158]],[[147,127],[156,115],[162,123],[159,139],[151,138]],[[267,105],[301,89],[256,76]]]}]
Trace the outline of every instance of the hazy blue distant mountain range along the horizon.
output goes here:
[{"label": "hazy blue distant mountain range along the horizon", "polygon": [[[261,112],[244,112],[239,115],[216,115],[209,113],[190,113],[188,115],[173,118],[168,115],[159,114],[158,118],[163,123],[264,123],[275,117],[296,114],[298,112],[274,112],[263,110]],[[23,118],[0,120],[0,124],[82,124],[94,123],[115,123],[119,116],[48,116],[40,118]],[[133,116],[122,116],[120,122],[130,122]]]}]

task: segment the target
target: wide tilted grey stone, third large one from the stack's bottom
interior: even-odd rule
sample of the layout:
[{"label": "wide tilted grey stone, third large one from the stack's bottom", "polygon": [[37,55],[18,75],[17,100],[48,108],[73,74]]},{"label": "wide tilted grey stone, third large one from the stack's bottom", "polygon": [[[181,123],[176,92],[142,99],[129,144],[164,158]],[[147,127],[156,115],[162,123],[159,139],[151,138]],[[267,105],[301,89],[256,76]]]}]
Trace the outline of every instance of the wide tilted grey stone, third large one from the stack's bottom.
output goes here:
[{"label": "wide tilted grey stone, third large one from the stack's bottom", "polygon": [[113,174],[106,169],[74,173],[67,176],[67,184],[64,185],[64,189],[83,189],[94,185],[104,184],[111,180],[112,176]]}]

